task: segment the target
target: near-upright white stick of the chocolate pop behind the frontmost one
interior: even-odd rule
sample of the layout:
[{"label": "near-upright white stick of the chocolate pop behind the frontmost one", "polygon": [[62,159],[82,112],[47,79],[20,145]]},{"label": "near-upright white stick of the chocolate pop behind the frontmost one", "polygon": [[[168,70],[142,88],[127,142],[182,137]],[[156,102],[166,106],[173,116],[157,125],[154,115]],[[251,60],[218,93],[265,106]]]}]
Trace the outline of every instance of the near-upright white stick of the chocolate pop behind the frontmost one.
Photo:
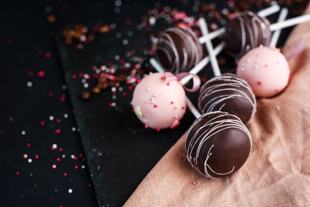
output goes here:
[{"label": "near-upright white stick of the chocolate pop behind the frontmost one", "polygon": [[[204,36],[207,35],[208,34],[208,30],[207,30],[206,20],[204,18],[199,18],[198,22],[199,22],[199,25],[200,25],[200,31],[201,31],[202,35],[204,35]],[[221,75],[221,71],[219,69],[216,56],[214,54],[214,50],[213,50],[213,46],[212,46],[211,40],[207,40],[206,41],[206,47],[207,47],[207,51],[209,53],[209,57],[210,57],[211,66],[212,66],[212,70],[213,70],[214,76],[220,76]]]}]

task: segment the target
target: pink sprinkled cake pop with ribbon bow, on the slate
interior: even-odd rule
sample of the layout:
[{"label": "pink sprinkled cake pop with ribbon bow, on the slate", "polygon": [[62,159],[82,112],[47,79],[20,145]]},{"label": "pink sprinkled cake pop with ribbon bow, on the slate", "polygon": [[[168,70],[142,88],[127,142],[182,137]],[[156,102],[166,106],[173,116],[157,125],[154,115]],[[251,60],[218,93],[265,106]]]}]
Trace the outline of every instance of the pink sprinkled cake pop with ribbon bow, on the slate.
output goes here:
[{"label": "pink sprinkled cake pop with ribbon bow, on the slate", "polygon": [[186,95],[178,80],[165,80],[163,73],[150,73],[136,86],[133,108],[137,117],[153,129],[174,128],[183,117]]}]

